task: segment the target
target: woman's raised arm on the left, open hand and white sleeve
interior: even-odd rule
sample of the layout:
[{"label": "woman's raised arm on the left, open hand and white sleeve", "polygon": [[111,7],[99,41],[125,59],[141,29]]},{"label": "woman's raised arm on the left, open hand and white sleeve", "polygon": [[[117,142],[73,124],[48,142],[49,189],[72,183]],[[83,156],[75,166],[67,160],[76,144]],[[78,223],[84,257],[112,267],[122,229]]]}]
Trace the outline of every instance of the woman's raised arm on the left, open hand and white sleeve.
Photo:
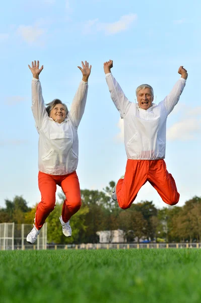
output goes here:
[{"label": "woman's raised arm on the left, open hand and white sleeve", "polygon": [[30,65],[28,65],[28,67],[33,74],[32,86],[31,86],[31,88],[32,88],[32,107],[31,107],[31,109],[32,109],[32,113],[34,116],[34,120],[36,122],[36,127],[39,131],[42,126],[42,121],[43,121],[44,117],[48,116],[46,109],[45,109],[43,96],[42,96],[41,84],[39,81],[39,75],[40,75],[41,71],[43,70],[43,65],[39,69],[39,61],[37,61],[37,64],[36,64],[36,61],[34,61],[34,62],[32,62],[32,67],[30,67]]}]

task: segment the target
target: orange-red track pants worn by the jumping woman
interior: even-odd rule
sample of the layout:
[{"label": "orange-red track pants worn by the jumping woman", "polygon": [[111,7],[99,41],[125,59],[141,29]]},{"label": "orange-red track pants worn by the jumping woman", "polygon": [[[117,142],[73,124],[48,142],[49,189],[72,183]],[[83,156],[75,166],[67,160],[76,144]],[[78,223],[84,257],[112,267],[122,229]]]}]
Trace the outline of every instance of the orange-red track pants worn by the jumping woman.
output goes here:
[{"label": "orange-red track pants worn by the jumping woman", "polygon": [[38,173],[38,187],[41,193],[41,201],[36,209],[35,226],[41,229],[46,218],[55,207],[56,185],[61,186],[66,199],[62,207],[62,220],[68,222],[81,207],[80,184],[76,171],[62,176]]}]

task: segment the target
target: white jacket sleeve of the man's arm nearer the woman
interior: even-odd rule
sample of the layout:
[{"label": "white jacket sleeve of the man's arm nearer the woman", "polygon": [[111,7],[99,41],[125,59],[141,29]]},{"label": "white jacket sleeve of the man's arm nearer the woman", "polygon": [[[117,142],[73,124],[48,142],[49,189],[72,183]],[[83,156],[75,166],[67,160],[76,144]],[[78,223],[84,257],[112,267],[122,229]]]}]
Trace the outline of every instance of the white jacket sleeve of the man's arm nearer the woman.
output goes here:
[{"label": "white jacket sleeve of the man's arm nearer the woman", "polygon": [[111,73],[106,74],[106,82],[109,87],[111,99],[119,111],[121,119],[123,119],[126,115],[129,105],[132,103],[128,101],[120,85]]}]

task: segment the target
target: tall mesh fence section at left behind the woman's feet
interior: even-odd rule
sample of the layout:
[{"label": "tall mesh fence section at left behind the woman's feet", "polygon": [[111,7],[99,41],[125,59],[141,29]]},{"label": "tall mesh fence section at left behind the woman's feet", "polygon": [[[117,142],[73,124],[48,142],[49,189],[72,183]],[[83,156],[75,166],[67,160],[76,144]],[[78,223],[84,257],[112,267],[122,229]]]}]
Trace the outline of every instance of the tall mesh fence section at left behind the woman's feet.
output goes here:
[{"label": "tall mesh fence section at left behind the woman's feet", "polygon": [[[33,249],[26,238],[32,230],[32,224],[0,223],[0,250]],[[41,229],[35,242],[35,249],[46,249],[47,223]]]}]

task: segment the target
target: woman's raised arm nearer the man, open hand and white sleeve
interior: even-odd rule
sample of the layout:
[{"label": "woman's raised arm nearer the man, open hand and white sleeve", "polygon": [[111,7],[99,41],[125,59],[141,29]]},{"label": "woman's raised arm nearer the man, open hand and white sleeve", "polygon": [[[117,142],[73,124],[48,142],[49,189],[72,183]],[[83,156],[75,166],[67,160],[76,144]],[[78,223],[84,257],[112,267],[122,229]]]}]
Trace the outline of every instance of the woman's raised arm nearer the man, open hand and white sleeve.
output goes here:
[{"label": "woman's raised arm nearer the man, open hand and white sleeve", "polygon": [[85,64],[82,61],[82,67],[78,66],[78,68],[81,70],[83,77],[73,99],[71,111],[69,113],[77,128],[85,111],[91,65],[89,67],[89,63],[87,61],[85,61]]}]

